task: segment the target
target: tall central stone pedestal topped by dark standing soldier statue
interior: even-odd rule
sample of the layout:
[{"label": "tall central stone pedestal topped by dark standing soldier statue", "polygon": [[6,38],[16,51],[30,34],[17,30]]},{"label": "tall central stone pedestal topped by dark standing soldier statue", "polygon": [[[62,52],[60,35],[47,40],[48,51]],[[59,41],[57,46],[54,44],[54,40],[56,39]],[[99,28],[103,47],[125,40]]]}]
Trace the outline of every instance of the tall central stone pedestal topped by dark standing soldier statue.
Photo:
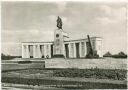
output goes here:
[{"label": "tall central stone pedestal topped by dark standing soldier statue", "polygon": [[53,57],[64,57],[64,35],[62,29],[62,20],[58,16],[57,27],[54,32]]}]

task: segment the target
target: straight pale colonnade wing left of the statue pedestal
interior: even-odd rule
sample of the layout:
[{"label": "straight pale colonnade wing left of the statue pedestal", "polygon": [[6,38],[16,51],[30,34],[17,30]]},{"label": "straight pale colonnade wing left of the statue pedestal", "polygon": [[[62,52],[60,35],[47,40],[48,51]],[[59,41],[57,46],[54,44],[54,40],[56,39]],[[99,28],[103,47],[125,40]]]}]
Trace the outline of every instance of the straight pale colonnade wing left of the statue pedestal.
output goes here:
[{"label": "straight pale colonnade wing left of the statue pedestal", "polygon": [[[51,58],[51,45],[52,44],[22,44],[22,58]],[[32,47],[32,50],[30,49]]]}]

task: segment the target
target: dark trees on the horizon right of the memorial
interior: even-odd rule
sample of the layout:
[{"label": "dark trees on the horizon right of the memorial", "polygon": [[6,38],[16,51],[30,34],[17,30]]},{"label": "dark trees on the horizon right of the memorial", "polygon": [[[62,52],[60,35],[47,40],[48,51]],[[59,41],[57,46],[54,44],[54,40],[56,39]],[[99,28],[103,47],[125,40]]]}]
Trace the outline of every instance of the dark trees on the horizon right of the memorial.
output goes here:
[{"label": "dark trees on the horizon right of the memorial", "polygon": [[124,52],[119,52],[118,54],[111,54],[110,52],[107,52],[103,55],[103,57],[127,58],[127,55]]}]

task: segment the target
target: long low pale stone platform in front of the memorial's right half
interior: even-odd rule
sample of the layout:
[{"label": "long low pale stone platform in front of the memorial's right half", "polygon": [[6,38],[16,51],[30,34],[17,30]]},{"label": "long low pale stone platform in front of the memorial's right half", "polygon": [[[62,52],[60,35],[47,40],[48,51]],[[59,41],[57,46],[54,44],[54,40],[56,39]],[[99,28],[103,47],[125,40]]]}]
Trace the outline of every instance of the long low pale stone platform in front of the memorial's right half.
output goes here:
[{"label": "long low pale stone platform in front of the memorial's right half", "polygon": [[126,59],[63,59],[54,58],[45,60],[45,68],[102,68],[102,69],[126,69]]}]

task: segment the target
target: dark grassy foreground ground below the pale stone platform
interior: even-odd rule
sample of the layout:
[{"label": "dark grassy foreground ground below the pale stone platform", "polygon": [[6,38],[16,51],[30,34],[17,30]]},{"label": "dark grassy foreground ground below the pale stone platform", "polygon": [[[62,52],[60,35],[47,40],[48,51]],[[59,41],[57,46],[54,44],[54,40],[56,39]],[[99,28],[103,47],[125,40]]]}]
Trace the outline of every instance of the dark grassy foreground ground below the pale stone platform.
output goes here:
[{"label": "dark grassy foreground ground below the pale stone platform", "polygon": [[74,89],[126,89],[125,80],[126,70],[118,69],[26,69],[2,73],[3,83]]}]

